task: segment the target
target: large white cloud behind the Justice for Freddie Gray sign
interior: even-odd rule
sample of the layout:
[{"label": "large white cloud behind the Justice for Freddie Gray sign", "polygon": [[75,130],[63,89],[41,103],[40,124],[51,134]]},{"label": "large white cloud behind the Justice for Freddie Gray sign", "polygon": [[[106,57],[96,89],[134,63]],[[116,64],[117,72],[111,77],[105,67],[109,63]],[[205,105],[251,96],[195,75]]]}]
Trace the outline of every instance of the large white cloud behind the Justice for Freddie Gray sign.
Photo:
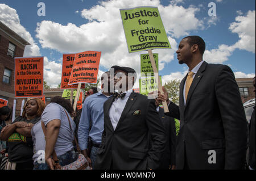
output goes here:
[{"label": "large white cloud behind the Justice for Freddie Gray sign", "polygon": [[[91,9],[82,10],[82,17],[88,19],[89,23],[80,27],[72,23],[67,25],[51,21],[38,23],[36,37],[43,48],[55,49],[61,53],[101,50],[101,66],[109,69],[118,64],[130,66],[139,72],[139,54],[147,52],[128,53],[119,12],[119,9],[137,6],[158,7],[164,27],[172,37],[188,35],[189,31],[203,26],[203,22],[195,18],[195,13],[200,10],[195,7],[185,9],[171,4],[162,6],[159,0],[112,0],[102,1]],[[160,54],[160,70],[166,63],[174,60],[177,43],[175,39],[168,38],[173,49],[153,50],[153,53]]]}]

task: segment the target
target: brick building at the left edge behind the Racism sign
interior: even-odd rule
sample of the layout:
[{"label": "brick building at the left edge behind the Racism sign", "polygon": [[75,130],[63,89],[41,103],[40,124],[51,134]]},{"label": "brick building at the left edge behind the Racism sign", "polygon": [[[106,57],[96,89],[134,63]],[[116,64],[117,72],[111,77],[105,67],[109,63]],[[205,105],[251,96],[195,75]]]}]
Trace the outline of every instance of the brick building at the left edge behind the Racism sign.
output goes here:
[{"label": "brick building at the left edge behind the Racism sign", "polygon": [[[0,98],[8,100],[8,105],[14,104],[14,57],[23,57],[24,48],[30,45],[17,33],[0,22]],[[20,115],[23,99],[16,99],[15,115]]]}]

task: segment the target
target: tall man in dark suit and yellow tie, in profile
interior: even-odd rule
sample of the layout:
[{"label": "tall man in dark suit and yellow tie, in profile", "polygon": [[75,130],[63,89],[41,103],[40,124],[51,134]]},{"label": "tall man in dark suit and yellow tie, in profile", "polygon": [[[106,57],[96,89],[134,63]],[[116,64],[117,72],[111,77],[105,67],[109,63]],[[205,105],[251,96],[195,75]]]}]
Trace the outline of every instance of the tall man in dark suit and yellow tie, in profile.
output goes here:
[{"label": "tall man in dark suit and yellow tie, in profile", "polygon": [[233,71],[203,61],[204,40],[188,36],[176,51],[189,72],[180,83],[179,107],[167,96],[167,115],[180,120],[177,169],[244,169],[247,121]]}]

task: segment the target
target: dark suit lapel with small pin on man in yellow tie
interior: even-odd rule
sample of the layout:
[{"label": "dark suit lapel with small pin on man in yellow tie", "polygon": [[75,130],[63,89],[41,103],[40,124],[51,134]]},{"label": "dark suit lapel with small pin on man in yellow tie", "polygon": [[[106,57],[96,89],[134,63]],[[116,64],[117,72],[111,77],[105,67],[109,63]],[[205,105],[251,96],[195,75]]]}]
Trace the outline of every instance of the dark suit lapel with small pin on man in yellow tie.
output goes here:
[{"label": "dark suit lapel with small pin on man in yellow tie", "polygon": [[197,84],[200,82],[201,78],[203,77],[203,71],[205,70],[206,65],[207,65],[207,62],[203,62],[203,64],[200,66],[199,70],[197,71],[195,77],[193,78],[192,84],[188,91],[185,108],[187,107],[189,100],[191,99],[191,96],[193,95],[193,92],[196,89]]}]

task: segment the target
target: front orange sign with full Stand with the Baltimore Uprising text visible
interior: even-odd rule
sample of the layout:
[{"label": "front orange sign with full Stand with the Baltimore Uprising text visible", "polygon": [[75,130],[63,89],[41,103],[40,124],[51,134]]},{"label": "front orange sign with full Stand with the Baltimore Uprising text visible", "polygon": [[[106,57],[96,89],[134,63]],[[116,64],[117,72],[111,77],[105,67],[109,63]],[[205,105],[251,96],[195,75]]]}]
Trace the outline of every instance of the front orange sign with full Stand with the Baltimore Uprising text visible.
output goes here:
[{"label": "front orange sign with full Stand with the Baltimore Uprising text visible", "polygon": [[101,52],[86,51],[75,54],[75,61],[68,85],[76,83],[97,83]]}]

